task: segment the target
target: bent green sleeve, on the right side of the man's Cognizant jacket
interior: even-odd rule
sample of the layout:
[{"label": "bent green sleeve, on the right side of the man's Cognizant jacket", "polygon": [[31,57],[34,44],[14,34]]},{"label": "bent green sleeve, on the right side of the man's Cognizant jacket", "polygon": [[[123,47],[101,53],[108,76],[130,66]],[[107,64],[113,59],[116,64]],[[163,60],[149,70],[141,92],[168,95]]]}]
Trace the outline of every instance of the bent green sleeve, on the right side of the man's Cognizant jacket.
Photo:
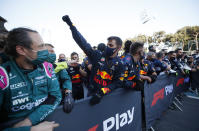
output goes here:
[{"label": "bent green sleeve, on the right side of the man's Cognizant jacket", "polygon": [[32,122],[32,125],[35,125],[44,120],[44,118],[52,113],[61,102],[62,96],[59,82],[54,73],[54,69],[52,72],[52,77],[48,79],[48,98],[28,116]]}]

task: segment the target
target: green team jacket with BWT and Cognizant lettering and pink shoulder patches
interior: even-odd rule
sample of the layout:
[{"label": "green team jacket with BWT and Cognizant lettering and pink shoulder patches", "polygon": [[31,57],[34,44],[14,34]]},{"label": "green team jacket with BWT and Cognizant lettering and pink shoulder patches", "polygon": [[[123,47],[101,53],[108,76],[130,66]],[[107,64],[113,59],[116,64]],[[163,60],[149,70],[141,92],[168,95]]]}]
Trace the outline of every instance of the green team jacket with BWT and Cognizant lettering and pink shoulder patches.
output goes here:
[{"label": "green team jacket with BWT and Cognizant lettering and pink shoulder patches", "polygon": [[52,64],[24,70],[8,61],[0,67],[0,109],[5,120],[29,118],[32,125],[46,118],[61,101],[59,83]]}]

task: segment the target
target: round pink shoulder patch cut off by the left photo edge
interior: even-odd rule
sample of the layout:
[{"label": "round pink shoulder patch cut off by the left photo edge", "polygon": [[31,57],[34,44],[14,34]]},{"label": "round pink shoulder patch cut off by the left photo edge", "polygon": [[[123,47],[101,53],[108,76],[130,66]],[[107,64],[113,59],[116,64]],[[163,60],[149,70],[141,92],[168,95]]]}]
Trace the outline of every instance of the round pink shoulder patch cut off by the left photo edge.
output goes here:
[{"label": "round pink shoulder patch cut off by the left photo edge", "polygon": [[1,89],[7,88],[9,85],[8,75],[3,67],[0,67],[0,87]]}]

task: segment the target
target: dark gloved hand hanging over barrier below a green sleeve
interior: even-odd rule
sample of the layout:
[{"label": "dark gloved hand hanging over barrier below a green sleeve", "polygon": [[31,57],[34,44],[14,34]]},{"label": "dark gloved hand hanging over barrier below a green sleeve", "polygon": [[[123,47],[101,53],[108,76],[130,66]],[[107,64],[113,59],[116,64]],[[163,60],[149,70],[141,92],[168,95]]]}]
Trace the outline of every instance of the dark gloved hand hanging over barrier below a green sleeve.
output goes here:
[{"label": "dark gloved hand hanging over barrier below a green sleeve", "polygon": [[70,113],[74,107],[74,99],[72,93],[66,93],[64,98],[63,110],[66,113]]}]

